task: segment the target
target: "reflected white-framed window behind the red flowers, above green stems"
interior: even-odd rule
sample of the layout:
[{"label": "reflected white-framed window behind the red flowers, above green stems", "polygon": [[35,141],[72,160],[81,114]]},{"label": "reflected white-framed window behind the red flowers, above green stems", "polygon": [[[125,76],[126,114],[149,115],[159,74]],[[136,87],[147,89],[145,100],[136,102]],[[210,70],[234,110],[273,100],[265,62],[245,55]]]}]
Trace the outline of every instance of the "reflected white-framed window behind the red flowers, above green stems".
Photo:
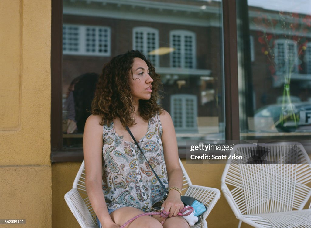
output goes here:
[{"label": "reflected white-framed window behind the red flowers, above green stems", "polygon": [[297,43],[294,40],[278,39],[274,47],[276,74],[297,73]]}]

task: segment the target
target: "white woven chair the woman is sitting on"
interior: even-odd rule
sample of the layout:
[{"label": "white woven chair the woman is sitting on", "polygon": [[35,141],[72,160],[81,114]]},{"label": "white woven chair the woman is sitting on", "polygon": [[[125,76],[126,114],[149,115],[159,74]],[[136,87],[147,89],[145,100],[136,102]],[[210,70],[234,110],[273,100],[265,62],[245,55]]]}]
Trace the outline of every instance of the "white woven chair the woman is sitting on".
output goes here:
[{"label": "white woven chair the woman is sitting on", "polygon": [[[220,198],[220,191],[216,188],[193,185],[180,159],[179,163],[183,170],[182,191],[186,191],[184,194],[185,196],[192,196],[207,206],[207,211],[203,213],[203,218],[206,220],[212,208]],[[84,161],[82,162],[77,176],[73,182],[72,189],[65,194],[65,200],[82,228],[98,227],[95,212],[93,211],[91,203],[86,194]],[[200,224],[192,226],[192,228],[199,227],[201,227]]]}]

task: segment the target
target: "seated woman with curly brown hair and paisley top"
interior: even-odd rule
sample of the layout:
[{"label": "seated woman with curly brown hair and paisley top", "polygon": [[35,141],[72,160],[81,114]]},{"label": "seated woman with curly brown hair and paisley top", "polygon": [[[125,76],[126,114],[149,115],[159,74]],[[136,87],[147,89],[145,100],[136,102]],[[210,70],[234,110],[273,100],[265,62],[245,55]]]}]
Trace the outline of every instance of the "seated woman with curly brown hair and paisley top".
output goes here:
[{"label": "seated woman with curly brown hair and paisley top", "polygon": [[189,227],[176,216],[183,208],[183,174],[172,119],[157,104],[159,85],[160,76],[139,51],[118,55],[104,65],[83,134],[86,190],[104,228],[120,227],[151,211],[152,204],[165,196],[126,126],[170,189],[162,204],[169,217],[141,216],[126,228]]}]

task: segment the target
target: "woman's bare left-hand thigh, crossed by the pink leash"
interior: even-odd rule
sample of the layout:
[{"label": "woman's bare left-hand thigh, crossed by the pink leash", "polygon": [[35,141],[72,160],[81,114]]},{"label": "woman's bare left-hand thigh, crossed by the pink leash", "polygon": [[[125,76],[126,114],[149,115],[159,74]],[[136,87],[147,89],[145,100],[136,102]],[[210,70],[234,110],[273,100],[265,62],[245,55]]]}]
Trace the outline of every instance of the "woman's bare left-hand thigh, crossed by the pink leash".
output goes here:
[{"label": "woman's bare left-hand thigh, crossed by the pink leash", "polygon": [[[114,223],[118,224],[119,226],[122,226],[125,222],[130,220],[131,218],[140,215],[144,213],[143,211],[134,208],[134,207],[122,207],[119,208],[118,210],[113,211],[110,216]],[[163,228],[161,223],[149,216],[141,216],[131,223],[129,223],[125,228]]]}]

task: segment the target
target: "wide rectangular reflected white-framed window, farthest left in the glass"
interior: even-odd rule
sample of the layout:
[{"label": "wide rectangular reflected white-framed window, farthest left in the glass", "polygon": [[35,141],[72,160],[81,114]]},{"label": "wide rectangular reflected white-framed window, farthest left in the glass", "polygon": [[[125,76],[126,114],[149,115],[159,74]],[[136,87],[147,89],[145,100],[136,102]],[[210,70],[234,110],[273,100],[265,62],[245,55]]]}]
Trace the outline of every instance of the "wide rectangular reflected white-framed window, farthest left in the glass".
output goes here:
[{"label": "wide rectangular reflected white-framed window, farthest left in the glass", "polygon": [[110,28],[63,24],[63,55],[66,54],[110,56]]}]

